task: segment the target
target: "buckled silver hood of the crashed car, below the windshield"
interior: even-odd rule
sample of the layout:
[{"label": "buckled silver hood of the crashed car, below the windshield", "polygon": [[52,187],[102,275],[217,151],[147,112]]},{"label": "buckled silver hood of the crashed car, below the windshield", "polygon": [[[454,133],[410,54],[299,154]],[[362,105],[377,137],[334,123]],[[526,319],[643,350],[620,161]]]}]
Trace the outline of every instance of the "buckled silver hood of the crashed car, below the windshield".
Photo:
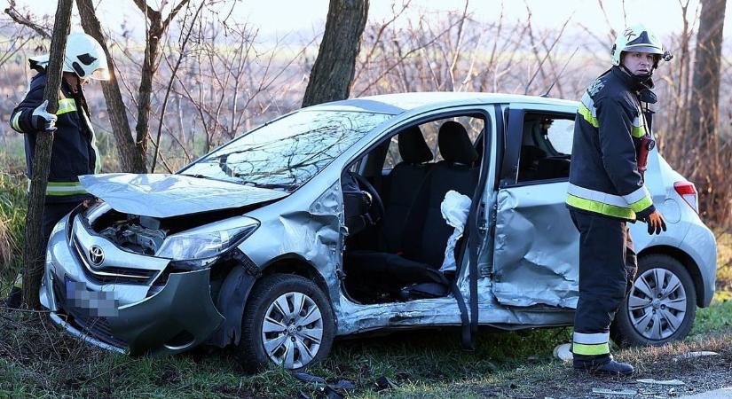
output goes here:
[{"label": "buckled silver hood of the crashed car, below the windshield", "polygon": [[247,207],[287,197],[287,192],[184,175],[110,173],[79,176],[87,192],[115,210],[170,217]]}]

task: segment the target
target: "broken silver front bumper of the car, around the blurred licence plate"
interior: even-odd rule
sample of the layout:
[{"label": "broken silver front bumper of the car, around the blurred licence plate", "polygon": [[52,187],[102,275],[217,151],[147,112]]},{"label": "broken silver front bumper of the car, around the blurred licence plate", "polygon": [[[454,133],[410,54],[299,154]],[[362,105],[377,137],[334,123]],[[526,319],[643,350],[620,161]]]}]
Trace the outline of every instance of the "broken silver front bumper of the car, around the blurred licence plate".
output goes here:
[{"label": "broken silver front bumper of the car, around the blurred licence plate", "polygon": [[[68,332],[100,348],[131,355],[174,354],[208,340],[223,322],[211,298],[209,269],[171,273],[158,289],[149,284],[96,282],[87,277],[68,239],[68,216],[60,223],[64,228],[56,229],[49,240],[40,296],[51,319]],[[70,300],[69,282],[92,295],[114,298],[114,307]]]}]

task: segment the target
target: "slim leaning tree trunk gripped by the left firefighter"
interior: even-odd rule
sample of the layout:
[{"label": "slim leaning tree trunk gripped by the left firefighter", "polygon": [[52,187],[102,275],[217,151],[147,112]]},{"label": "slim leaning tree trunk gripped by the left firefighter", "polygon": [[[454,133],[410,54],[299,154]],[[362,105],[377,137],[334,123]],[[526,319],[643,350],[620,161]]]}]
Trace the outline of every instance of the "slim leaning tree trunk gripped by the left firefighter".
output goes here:
[{"label": "slim leaning tree trunk gripped by the left firefighter", "polygon": [[[59,0],[56,20],[51,36],[51,57],[46,68],[48,80],[43,99],[48,101],[48,112],[59,110],[59,89],[61,87],[61,67],[66,52],[66,40],[71,26],[71,9],[74,0]],[[48,172],[51,166],[51,145],[53,133],[35,133],[35,155],[33,157],[33,177],[30,179],[28,193],[28,215],[26,216],[26,246],[23,252],[23,302],[30,309],[40,308],[38,290],[43,276],[43,205],[46,196]]]}]

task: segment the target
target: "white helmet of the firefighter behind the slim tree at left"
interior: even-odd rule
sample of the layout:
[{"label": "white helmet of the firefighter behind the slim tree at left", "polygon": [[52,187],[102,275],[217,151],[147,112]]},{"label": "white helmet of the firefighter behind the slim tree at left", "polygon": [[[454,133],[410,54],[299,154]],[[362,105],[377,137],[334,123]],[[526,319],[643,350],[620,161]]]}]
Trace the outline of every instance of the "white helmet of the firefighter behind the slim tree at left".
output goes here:
[{"label": "white helmet of the firefighter behind the slim tree at left", "polygon": [[[48,66],[49,54],[31,57],[31,67]],[[109,80],[109,68],[106,66],[106,54],[93,37],[76,32],[67,37],[64,72],[73,72],[82,79]]]}]

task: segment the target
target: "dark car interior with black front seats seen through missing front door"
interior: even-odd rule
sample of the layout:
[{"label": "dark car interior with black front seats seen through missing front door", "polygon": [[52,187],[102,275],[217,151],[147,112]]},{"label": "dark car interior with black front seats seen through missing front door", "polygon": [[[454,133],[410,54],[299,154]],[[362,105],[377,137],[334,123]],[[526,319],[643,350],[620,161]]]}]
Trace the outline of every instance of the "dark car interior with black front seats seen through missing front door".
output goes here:
[{"label": "dark car interior with black front seats seen through missing front door", "polygon": [[[478,182],[484,115],[428,121],[395,132],[342,175],[344,288],[360,303],[447,295],[454,272],[441,272],[453,227],[445,194],[472,198]],[[459,242],[457,253],[464,250]]]}]

